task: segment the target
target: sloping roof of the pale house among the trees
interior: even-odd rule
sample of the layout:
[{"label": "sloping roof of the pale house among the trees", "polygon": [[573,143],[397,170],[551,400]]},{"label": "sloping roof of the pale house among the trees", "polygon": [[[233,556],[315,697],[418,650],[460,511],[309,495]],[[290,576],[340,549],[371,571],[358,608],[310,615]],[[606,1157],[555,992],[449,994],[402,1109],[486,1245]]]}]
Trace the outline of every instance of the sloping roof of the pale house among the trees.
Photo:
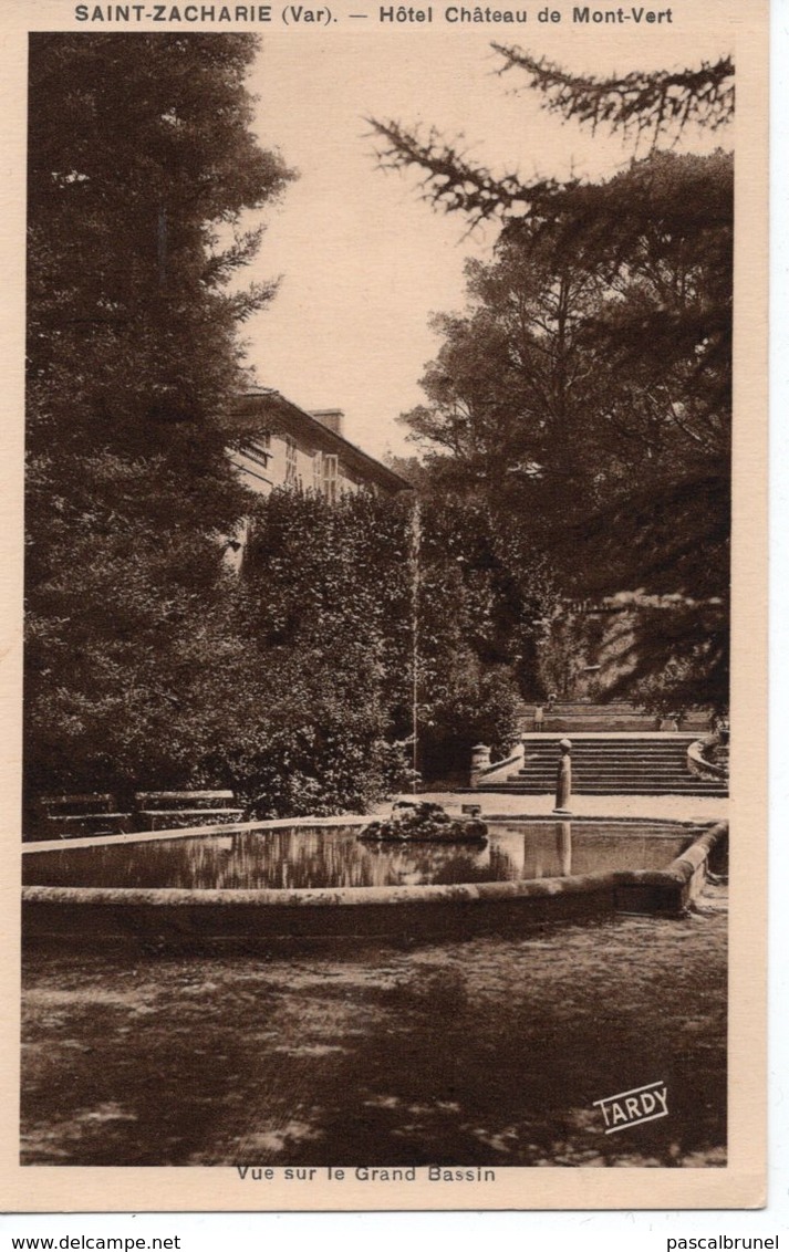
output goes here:
[{"label": "sloping roof of the pale house among the trees", "polygon": [[[333,412],[326,409],[324,412]],[[366,482],[374,482],[388,491],[413,491],[412,485],[402,475],[389,470],[368,452],[351,443],[344,436],[337,434],[293,401],[286,399],[273,387],[254,383],[238,394],[232,407],[233,424],[239,434],[253,437],[262,431],[284,434],[302,434],[317,449],[337,453],[344,466],[356,471]],[[239,421],[240,418],[240,421]],[[248,424],[245,418],[248,418]]]}]

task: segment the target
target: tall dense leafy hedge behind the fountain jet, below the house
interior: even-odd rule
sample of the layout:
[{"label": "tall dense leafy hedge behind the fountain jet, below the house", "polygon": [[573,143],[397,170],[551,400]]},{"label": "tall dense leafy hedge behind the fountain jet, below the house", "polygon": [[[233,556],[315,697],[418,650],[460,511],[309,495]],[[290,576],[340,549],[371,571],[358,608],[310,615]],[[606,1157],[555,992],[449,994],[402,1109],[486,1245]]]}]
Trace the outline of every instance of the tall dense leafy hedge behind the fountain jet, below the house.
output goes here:
[{"label": "tall dense leafy hedge behind the fountain jet, below the house", "polygon": [[510,746],[510,641],[467,512],[278,491],[252,526],[238,602],[257,729],[227,781],[258,811],[359,809],[402,786],[415,699],[423,776],[465,775],[481,736]]}]

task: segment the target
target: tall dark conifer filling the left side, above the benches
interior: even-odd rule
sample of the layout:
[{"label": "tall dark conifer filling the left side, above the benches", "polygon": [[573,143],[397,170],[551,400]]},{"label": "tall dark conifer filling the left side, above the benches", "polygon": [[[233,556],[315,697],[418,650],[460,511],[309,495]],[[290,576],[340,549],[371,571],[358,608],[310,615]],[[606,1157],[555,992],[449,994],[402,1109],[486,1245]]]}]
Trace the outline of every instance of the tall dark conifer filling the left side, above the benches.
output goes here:
[{"label": "tall dark conifer filling the left side, above the benches", "polygon": [[30,41],[25,771],[183,782],[209,689],[232,697],[220,536],[229,292],[288,172],[250,134],[243,35]]}]

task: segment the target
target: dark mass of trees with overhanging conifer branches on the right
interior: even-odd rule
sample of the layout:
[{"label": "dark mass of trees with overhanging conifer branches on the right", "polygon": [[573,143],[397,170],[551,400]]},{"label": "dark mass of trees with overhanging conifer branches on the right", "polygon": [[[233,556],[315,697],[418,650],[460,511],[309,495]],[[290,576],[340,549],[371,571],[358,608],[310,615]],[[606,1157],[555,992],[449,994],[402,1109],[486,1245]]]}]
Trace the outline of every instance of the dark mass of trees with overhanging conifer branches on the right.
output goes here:
[{"label": "dark mass of trees with overhanging conifer branches on the right", "polygon": [[731,64],[606,80],[498,51],[550,108],[647,133],[652,151],[604,182],[525,183],[470,164],[435,131],[374,124],[382,164],[418,167],[435,207],[503,223],[471,316],[442,326],[431,403],[406,419],[456,468],[495,476],[512,517],[542,518],[566,591],[630,597],[620,690],[724,705],[731,162],[658,149],[729,120]]}]

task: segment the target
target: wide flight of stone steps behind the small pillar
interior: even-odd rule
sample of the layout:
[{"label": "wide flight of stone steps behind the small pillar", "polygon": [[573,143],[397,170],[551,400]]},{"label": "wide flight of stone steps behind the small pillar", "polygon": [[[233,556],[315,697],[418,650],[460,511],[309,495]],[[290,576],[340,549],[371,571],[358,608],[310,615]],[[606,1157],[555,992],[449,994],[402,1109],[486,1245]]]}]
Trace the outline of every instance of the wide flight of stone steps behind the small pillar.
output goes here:
[{"label": "wide flight of stone steps behind the small pillar", "polygon": [[[545,795],[556,785],[557,741],[561,735],[529,735],[523,764],[496,781],[481,781],[485,791]],[[570,736],[569,736],[570,737]],[[720,795],[725,779],[699,779],[688,770],[688,745],[699,735],[586,734],[572,735],[572,791],[577,795]]]}]

